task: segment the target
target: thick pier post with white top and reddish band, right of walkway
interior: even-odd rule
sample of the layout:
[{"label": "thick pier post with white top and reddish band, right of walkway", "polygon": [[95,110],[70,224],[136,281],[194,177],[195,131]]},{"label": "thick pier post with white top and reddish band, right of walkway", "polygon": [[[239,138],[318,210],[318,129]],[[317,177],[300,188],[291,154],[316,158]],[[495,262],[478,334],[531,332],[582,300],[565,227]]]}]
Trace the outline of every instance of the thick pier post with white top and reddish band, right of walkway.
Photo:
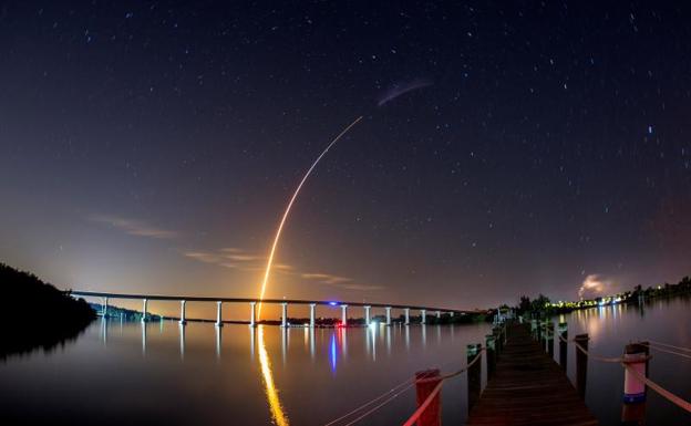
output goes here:
[{"label": "thick pier post with white top and reddish band, right of walkway", "polygon": [[649,347],[646,343],[631,343],[623,350],[623,404],[621,426],[642,426],[646,420],[646,384],[633,372],[648,377]]}]

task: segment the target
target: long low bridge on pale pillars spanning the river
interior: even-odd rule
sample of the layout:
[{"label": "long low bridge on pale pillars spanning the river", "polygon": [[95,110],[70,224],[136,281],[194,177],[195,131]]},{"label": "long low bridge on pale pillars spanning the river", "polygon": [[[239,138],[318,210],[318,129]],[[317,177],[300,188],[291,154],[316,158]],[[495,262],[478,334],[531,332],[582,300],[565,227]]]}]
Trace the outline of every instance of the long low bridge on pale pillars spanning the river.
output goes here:
[{"label": "long low bridge on pale pillars spanning the river", "polygon": [[383,308],[386,314],[386,325],[391,325],[391,310],[401,309],[404,313],[404,324],[410,325],[410,312],[420,311],[420,323],[425,324],[427,312],[433,313],[437,319],[442,318],[442,313],[454,316],[455,314],[465,315],[470,313],[478,313],[483,311],[463,311],[447,308],[434,308],[434,306],[416,306],[416,305],[403,305],[403,304],[389,304],[389,303],[367,303],[367,302],[338,302],[338,301],[324,301],[324,300],[301,300],[301,299],[251,299],[251,298],[212,298],[212,297],[189,297],[189,295],[162,295],[162,294],[124,294],[124,293],[106,293],[95,291],[81,291],[72,290],[72,295],[79,295],[83,298],[101,298],[103,300],[103,314],[107,312],[109,299],[135,299],[142,300],[142,321],[146,321],[147,303],[149,300],[158,301],[179,301],[181,303],[181,316],[179,323],[185,324],[187,322],[185,315],[185,305],[187,302],[207,302],[216,303],[216,326],[223,326],[223,304],[224,303],[248,303],[249,304],[249,325],[257,325],[256,306],[257,303],[262,304],[280,304],[281,305],[281,326],[288,326],[288,306],[290,304],[309,305],[310,308],[310,322],[309,326],[314,328],[316,324],[316,311],[318,305],[324,306],[340,306],[341,308],[341,324],[348,325],[348,308],[358,306],[364,311],[364,323],[370,325],[372,322],[372,308]]}]

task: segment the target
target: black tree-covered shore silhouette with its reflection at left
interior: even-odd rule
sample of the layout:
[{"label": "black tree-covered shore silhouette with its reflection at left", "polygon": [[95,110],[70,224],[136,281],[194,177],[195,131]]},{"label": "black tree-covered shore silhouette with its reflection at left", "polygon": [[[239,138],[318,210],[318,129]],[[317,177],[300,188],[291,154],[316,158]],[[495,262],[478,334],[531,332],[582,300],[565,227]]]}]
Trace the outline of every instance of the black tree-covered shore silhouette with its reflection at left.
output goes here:
[{"label": "black tree-covered shore silhouette with its reflection at left", "polygon": [[0,360],[38,347],[50,351],[74,339],[96,315],[32,273],[0,263]]}]

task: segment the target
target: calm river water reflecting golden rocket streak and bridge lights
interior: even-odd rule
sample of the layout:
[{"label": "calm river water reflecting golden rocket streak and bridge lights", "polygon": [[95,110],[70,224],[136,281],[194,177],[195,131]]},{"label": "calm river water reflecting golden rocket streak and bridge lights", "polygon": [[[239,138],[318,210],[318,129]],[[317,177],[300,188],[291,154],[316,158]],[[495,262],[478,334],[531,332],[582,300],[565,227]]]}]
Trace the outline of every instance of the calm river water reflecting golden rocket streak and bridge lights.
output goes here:
[{"label": "calm river water reflecting golden rocket streak and bridge lights", "polygon": [[[590,350],[605,356],[619,355],[629,340],[637,339],[691,347],[689,299],[654,301],[642,310],[591,309],[564,320],[571,336],[589,333]],[[97,320],[51,353],[0,361],[0,424],[324,425],[415,371],[464,366],[465,345],[484,342],[489,329],[488,324],[380,325],[311,333],[277,326],[250,330],[226,324],[218,330],[213,323],[181,328],[174,321],[143,325]],[[691,359],[653,355],[651,378],[691,399]],[[573,381],[573,345],[568,361]],[[602,425],[618,425],[621,366],[590,361],[588,367],[587,405]],[[445,424],[465,420],[465,375],[444,385]],[[414,404],[414,388],[409,388],[359,424],[401,424]],[[649,394],[648,425],[689,424],[691,416]]]}]

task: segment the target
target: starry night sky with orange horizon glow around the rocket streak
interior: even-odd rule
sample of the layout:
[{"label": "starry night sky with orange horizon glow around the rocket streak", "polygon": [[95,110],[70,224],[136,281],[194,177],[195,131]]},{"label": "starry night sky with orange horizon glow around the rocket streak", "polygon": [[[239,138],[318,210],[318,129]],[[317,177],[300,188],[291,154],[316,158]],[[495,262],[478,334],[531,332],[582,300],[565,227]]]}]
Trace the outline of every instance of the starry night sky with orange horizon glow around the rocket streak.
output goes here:
[{"label": "starry night sky with orange horizon glow around the rocket streak", "polygon": [[458,309],[691,273],[691,9],[0,2],[0,260]]}]

